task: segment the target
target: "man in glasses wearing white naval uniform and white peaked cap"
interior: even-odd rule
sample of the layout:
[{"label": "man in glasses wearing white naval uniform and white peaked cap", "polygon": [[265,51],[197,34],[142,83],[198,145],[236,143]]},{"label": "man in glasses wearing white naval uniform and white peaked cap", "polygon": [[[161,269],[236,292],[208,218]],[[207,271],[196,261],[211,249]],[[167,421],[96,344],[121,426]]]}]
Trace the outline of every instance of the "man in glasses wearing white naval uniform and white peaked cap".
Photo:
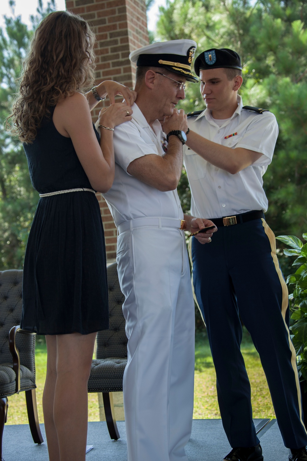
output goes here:
[{"label": "man in glasses wearing white naval uniform and white peaked cap", "polygon": [[[187,119],[185,97],[196,43],[155,43],[136,62],[133,119],[114,131],[115,180],[104,198],[118,228],[118,275],[128,361],[123,379],[128,461],[185,461],[194,383],[194,302],[184,228],[212,225],[185,217],[177,194]],[[167,137],[162,132],[159,120]],[[100,127],[101,130],[107,127]],[[180,229],[181,228],[181,229]],[[202,243],[210,233],[199,234]]]}]

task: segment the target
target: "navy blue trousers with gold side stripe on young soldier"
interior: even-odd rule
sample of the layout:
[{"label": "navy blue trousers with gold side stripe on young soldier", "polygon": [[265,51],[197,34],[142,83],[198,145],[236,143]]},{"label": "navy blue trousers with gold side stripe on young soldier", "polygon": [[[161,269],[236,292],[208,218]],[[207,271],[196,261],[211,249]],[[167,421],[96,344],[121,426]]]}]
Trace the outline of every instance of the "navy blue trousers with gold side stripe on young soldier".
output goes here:
[{"label": "navy blue trousers with gold side stripe on young soldier", "polygon": [[209,244],[201,245],[192,237],[191,253],[194,290],[207,326],[229,443],[232,447],[259,443],[240,351],[240,313],[260,355],[285,446],[307,445],[295,349],[288,328],[288,290],[273,232],[264,219],[218,227]]}]

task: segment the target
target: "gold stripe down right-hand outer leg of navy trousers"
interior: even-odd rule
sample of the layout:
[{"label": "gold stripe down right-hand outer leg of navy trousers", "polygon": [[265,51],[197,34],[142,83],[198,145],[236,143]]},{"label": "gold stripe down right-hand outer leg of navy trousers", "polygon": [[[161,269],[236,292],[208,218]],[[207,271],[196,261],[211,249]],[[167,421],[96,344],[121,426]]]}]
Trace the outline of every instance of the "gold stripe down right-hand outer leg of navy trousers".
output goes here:
[{"label": "gold stripe down right-hand outer leg of navy trousers", "polygon": [[[275,235],[273,233],[273,231],[270,229],[270,227],[266,224],[266,221],[265,219],[261,218],[262,220],[262,225],[263,225],[263,228],[264,228],[264,231],[270,241],[270,244],[271,244],[271,254],[272,254],[272,259],[273,259],[273,262],[274,262],[274,266],[275,266],[275,269],[276,269],[276,272],[278,274],[278,278],[279,278],[279,281],[280,281],[280,284],[281,284],[281,287],[282,287],[282,290],[283,290],[283,300],[282,300],[282,307],[281,307],[281,313],[282,313],[282,316],[283,316],[283,319],[284,319],[284,325],[287,329],[287,332],[288,332],[288,337],[289,337],[289,346],[290,346],[290,350],[291,350],[291,353],[292,353],[292,357],[291,357],[291,364],[292,364],[292,368],[293,368],[293,371],[294,371],[294,374],[295,374],[295,382],[296,382],[296,389],[297,389],[297,399],[298,399],[298,404],[299,404],[299,408],[300,408],[300,420],[301,420],[301,424],[304,426],[304,423],[303,423],[303,420],[302,420],[302,417],[301,417],[301,389],[300,389],[300,381],[299,381],[299,377],[298,377],[298,372],[297,372],[297,366],[296,366],[296,352],[295,352],[295,349],[294,349],[294,346],[292,344],[292,341],[291,341],[291,338],[290,338],[290,331],[289,331],[289,328],[288,328],[288,325],[286,324],[286,311],[287,311],[287,308],[288,308],[288,303],[289,303],[289,296],[288,296],[288,287],[287,287],[287,284],[286,282],[284,281],[284,277],[283,277],[283,274],[280,270],[280,267],[279,267],[279,264],[278,264],[278,258],[277,258],[277,254],[276,254],[276,240],[275,240]],[[305,431],[306,431],[306,428],[305,428]],[[307,431],[306,431],[307,433]]]}]

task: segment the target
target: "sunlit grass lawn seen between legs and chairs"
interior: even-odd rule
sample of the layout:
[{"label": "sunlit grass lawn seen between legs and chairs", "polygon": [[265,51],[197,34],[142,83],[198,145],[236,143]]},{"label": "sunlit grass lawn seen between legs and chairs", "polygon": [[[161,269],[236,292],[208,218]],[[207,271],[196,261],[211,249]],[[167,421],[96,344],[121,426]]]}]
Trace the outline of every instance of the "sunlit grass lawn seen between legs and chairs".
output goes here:
[{"label": "sunlit grass lawn seen between legs and chairs", "polygon": [[[259,355],[244,331],[242,353],[252,389],[252,405],[254,418],[274,418],[274,411],[266,378],[261,367]],[[40,423],[44,422],[42,411],[42,394],[46,378],[46,344],[36,344],[36,399]],[[9,410],[7,424],[28,424],[27,408],[24,392],[8,398]],[[198,334],[195,351],[195,392],[194,419],[220,418],[215,389],[215,371],[208,338]],[[88,420],[99,421],[98,395],[88,394]]]}]

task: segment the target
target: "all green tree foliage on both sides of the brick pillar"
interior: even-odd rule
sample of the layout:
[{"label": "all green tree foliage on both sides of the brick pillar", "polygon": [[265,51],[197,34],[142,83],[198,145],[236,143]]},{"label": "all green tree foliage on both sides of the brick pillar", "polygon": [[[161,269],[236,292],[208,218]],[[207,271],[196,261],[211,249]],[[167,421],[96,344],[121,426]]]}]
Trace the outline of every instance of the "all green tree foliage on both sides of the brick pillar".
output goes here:
[{"label": "all green tree foliage on both sides of the brick pillar", "polygon": [[[14,2],[10,1],[12,8]],[[147,0],[149,7],[151,0]],[[39,20],[55,9],[54,0],[44,11],[38,1],[33,27],[19,18],[6,18],[0,30],[0,120],[9,113],[16,92],[15,79]],[[244,104],[270,109],[279,124],[278,142],[264,176],[269,199],[266,219],[276,235],[301,238],[306,231],[307,188],[307,2],[250,0],[167,0],[159,8],[151,40],[192,38],[197,51],[230,47],[243,62]],[[188,83],[180,102],[186,112],[204,108],[199,85]],[[259,134],[261,136],[261,133]],[[184,211],[190,209],[190,189],[185,171],[178,187]],[[0,270],[22,268],[25,245],[38,201],[29,180],[21,144],[0,132]],[[279,253],[282,254],[281,251]],[[288,259],[280,260],[285,275]]]}]

